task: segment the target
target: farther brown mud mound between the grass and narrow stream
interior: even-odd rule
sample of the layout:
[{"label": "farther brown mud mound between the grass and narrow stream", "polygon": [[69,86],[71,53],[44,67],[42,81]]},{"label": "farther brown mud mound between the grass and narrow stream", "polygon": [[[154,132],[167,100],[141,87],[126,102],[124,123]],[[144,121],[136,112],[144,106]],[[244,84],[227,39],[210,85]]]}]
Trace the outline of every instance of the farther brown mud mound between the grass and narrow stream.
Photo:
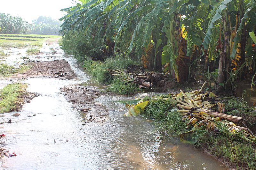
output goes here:
[{"label": "farther brown mud mound between the grass and narrow stream", "polygon": [[20,74],[11,76],[10,78],[34,78],[34,77],[49,77],[61,79],[76,78],[74,71],[66,60],[54,60],[45,62],[30,62],[28,66],[31,68]]}]

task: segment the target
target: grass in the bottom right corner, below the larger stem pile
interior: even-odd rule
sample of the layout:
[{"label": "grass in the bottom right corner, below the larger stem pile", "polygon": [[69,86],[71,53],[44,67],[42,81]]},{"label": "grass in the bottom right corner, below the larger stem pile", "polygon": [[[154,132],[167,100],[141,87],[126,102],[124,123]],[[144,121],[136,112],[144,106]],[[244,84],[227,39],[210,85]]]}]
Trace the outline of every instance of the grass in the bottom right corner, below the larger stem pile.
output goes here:
[{"label": "grass in the bottom right corner, below the larger stem pile", "polygon": [[246,143],[243,139],[223,131],[221,133],[197,131],[199,148],[206,149],[216,158],[236,165],[237,169],[256,169],[256,147],[255,144]]}]

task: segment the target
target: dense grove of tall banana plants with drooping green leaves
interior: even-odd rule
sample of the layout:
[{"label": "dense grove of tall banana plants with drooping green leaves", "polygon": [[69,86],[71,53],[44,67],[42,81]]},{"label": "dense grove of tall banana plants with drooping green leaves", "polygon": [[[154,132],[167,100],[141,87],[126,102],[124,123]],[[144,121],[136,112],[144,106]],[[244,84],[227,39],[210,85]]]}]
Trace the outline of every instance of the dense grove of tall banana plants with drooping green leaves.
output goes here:
[{"label": "dense grove of tall banana plants with drooping green leaves", "polygon": [[80,0],[62,11],[64,37],[82,31],[107,57],[130,56],[179,83],[203,65],[217,92],[233,91],[256,71],[256,0]]}]

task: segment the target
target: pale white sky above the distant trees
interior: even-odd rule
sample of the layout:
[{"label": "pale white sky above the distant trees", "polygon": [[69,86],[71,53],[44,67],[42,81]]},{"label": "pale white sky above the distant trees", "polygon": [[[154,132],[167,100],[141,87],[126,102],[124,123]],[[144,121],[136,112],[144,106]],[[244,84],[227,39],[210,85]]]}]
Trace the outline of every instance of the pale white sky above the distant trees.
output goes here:
[{"label": "pale white sky above the distant trees", "polygon": [[19,16],[31,23],[39,16],[59,19],[65,14],[61,9],[74,5],[73,0],[0,0],[0,13]]}]

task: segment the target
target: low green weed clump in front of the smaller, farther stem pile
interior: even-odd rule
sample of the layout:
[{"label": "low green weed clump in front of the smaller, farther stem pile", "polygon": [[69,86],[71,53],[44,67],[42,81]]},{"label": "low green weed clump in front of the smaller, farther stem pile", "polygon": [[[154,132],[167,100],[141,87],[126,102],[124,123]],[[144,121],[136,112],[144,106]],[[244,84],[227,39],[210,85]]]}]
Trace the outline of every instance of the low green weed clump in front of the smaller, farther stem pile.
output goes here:
[{"label": "low green weed clump in front of the smaller, farther stem pile", "polygon": [[139,92],[140,88],[134,83],[124,83],[119,79],[114,79],[112,80],[111,86],[107,87],[106,91],[123,95],[132,95],[135,92]]}]

